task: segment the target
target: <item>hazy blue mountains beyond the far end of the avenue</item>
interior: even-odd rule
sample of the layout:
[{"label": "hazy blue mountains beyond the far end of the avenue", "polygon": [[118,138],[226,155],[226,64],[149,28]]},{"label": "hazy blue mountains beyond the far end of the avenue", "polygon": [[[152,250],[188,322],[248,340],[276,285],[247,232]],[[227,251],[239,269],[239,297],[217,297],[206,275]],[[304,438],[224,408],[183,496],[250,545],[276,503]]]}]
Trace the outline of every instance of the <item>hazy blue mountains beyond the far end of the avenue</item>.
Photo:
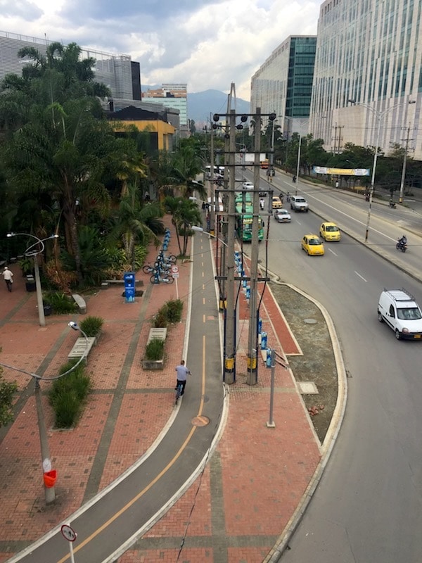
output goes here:
[{"label": "hazy blue mountains beyond the far end of the avenue", "polygon": [[[142,91],[160,88],[158,86],[142,86]],[[234,107],[234,104],[231,104]],[[250,103],[241,98],[236,98],[236,113],[250,113]],[[227,94],[221,90],[204,90],[202,92],[188,92],[188,119],[193,120],[196,129],[205,127],[207,121],[210,121],[210,115],[214,113],[226,113],[227,111]]]}]

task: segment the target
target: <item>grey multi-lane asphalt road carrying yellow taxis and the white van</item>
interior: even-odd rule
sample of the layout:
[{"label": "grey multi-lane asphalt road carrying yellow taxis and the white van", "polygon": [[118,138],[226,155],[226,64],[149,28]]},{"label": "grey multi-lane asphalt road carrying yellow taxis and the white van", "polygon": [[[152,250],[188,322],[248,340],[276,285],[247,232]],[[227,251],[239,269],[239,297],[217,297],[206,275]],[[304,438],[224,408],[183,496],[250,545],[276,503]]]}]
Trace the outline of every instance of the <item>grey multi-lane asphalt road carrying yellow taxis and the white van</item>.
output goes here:
[{"label": "grey multi-lane asphalt road carrying yellow taxis and the white van", "polygon": [[[292,193],[294,184],[280,180],[275,185]],[[302,187],[311,208],[350,229],[356,239],[343,235],[340,243],[326,243],[324,257],[308,257],[299,241],[307,232],[318,232],[321,217],[292,213],[291,224],[271,220],[269,265],[283,281],[307,291],[330,312],[349,376],[348,400],[331,460],[281,560],[419,563],[422,343],[396,341],[393,332],[378,322],[376,307],[384,286],[404,286],[422,305],[422,286],[359,242],[364,238],[359,224],[362,229],[367,203],[365,209],[359,198],[318,193],[299,184]],[[387,257],[399,255],[402,267],[409,260],[414,274],[421,277],[422,240],[413,234],[409,253],[395,250],[402,222],[409,221],[407,210],[374,207],[369,241]],[[391,216],[392,211],[399,213]],[[415,223],[417,232],[421,225]]]}]

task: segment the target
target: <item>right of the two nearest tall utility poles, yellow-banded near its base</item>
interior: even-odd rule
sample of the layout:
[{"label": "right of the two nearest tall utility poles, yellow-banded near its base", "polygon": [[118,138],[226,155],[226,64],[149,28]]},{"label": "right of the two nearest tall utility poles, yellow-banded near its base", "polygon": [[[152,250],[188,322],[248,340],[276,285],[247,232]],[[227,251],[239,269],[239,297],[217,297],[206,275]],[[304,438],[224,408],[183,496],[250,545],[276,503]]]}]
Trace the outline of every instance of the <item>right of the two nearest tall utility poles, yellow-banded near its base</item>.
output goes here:
[{"label": "right of the two nearest tall utility poles, yellow-banded near its base", "polygon": [[260,210],[260,150],[261,150],[261,108],[257,108],[255,115],[255,160],[253,168],[253,207],[252,207],[252,241],[250,248],[250,300],[249,300],[249,336],[248,336],[248,385],[255,385],[258,381],[257,372],[257,277],[259,255],[259,210]]}]

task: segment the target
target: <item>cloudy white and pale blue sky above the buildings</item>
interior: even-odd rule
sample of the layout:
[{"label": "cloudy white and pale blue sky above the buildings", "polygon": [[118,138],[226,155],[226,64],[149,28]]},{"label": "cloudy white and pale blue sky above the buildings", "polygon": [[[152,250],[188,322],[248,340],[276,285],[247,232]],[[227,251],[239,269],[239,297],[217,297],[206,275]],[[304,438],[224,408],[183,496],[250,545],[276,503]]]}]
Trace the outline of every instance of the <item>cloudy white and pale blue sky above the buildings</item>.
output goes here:
[{"label": "cloudy white and pale blue sky above the buildings", "polygon": [[0,31],[126,54],[141,84],[186,83],[250,100],[289,35],[314,35],[322,0],[0,0]]}]

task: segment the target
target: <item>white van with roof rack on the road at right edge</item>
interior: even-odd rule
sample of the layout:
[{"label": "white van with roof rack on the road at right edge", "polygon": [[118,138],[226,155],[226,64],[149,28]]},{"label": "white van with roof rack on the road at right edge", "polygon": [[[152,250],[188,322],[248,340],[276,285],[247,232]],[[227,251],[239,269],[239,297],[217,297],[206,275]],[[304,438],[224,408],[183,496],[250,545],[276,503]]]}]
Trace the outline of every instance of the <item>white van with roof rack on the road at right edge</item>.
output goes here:
[{"label": "white van with roof rack on the road at right edge", "polygon": [[405,289],[384,289],[378,300],[378,321],[386,322],[399,339],[422,339],[422,312]]}]

